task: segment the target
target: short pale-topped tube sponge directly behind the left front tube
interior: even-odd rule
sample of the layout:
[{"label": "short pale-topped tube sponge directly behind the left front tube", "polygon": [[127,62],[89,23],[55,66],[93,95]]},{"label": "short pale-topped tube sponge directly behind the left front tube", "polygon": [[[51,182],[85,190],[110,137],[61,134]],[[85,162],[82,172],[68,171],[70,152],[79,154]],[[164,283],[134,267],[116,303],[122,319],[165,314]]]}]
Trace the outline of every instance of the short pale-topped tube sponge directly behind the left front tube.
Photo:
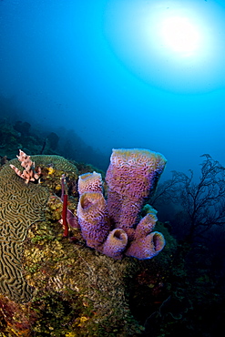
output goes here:
[{"label": "short pale-topped tube sponge directly behind the left front tube", "polygon": [[102,192],[102,177],[100,173],[84,173],[78,179],[79,195],[84,192]]}]

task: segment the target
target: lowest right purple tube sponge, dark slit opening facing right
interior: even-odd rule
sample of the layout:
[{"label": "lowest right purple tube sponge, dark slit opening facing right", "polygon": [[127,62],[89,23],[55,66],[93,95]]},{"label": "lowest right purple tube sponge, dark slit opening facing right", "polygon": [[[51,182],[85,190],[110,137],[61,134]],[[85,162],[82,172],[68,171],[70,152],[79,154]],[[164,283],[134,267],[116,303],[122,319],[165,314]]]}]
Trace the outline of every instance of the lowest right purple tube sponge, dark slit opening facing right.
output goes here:
[{"label": "lowest right purple tube sponge, dark slit opening facing right", "polygon": [[145,238],[138,238],[131,242],[127,256],[133,256],[139,260],[151,259],[159,254],[165,246],[165,239],[159,231],[153,231]]}]

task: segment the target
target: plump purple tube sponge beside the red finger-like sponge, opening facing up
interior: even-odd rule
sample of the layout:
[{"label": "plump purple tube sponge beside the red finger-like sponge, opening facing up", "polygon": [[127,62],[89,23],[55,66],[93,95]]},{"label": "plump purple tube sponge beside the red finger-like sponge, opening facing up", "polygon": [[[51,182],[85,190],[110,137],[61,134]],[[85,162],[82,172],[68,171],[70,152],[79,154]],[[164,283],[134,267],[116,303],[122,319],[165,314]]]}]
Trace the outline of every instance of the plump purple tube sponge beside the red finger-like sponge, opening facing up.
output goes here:
[{"label": "plump purple tube sponge beside the red finger-like sponge, opening facing up", "polygon": [[85,192],[77,206],[77,217],[87,246],[100,250],[110,230],[107,203],[100,192]]}]

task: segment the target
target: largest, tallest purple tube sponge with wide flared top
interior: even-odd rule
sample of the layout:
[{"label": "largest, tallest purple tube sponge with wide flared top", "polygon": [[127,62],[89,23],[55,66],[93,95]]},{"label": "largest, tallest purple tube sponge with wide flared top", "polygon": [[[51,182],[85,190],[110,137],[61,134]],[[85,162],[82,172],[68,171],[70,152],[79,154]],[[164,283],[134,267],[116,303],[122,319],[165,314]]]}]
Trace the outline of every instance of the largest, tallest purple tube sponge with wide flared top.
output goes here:
[{"label": "largest, tallest purple tube sponge with wide flared top", "polygon": [[116,228],[128,233],[138,224],[145,199],[156,188],[166,165],[166,158],[148,149],[113,149],[107,168],[107,210]]}]

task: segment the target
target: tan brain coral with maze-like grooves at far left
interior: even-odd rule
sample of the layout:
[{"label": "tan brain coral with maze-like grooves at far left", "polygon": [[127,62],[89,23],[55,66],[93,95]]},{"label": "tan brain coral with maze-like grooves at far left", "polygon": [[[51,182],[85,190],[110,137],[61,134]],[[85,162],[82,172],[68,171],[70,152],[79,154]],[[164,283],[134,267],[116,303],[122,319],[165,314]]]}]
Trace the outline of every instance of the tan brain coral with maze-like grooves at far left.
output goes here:
[{"label": "tan brain coral with maze-like grooves at far left", "polygon": [[[76,166],[59,156],[32,156],[32,160],[37,166],[53,166],[77,174]],[[49,192],[39,184],[25,184],[9,164],[21,168],[19,161],[13,159],[0,171],[0,292],[13,301],[26,302],[32,289],[23,277],[23,241],[33,223],[45,220],[43,209]]]}]

